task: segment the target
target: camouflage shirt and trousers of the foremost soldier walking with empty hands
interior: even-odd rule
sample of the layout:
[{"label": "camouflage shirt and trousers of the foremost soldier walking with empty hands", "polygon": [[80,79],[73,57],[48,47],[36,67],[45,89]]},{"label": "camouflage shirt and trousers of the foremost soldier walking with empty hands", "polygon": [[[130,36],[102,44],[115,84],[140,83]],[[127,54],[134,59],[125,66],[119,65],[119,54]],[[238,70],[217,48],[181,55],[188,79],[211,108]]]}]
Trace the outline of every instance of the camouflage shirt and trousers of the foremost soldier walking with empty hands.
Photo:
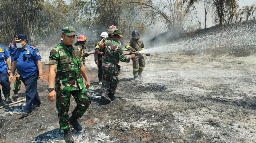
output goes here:
[{"label": "camouflage shirt and trousers of the foremost soldier walking with empty hands", "polygon": [[57,65],[55,78],[56,107],[61,129],[69,129],[69,103],[73,95],[77,106],[72,112],[75,118],[81,118],[91,104],[88,97],[80,68],[82,66],[82,51],[77,46],[69,48],[62,42],[50,53],[49,64]]}]

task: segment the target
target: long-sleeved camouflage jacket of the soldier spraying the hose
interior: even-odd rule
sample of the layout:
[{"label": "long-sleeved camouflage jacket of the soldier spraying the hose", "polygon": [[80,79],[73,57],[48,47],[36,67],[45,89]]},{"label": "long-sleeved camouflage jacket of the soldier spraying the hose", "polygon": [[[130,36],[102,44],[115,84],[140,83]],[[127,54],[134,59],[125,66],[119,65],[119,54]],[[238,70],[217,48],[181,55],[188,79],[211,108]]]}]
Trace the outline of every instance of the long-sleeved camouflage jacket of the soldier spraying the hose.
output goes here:
[{"label": "long-sleeved camouflage jacket of the soldier spraying the hose", "polygon": [[127,63],[130,62],[131,56],[123,55],[123,48],[115,39],[106,41],[104,45],[105,48],[102,48],[103,53],[105,53],[104,62],[108,65],[111,65],[111,63],[118,64],[119,61]]}]

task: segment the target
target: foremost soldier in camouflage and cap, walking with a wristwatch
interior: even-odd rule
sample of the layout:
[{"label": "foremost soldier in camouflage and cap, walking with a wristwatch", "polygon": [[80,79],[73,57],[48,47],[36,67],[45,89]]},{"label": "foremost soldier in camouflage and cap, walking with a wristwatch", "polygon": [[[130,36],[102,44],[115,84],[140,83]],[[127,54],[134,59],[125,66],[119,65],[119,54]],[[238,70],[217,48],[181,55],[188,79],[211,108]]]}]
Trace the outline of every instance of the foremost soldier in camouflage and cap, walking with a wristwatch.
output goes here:
[{"label": "foremost soldier in camouflage and cap, walking with a wristwatch", "polygon": [[[76,131],[82,131],[82,127],[77,119],[84,115],[91,104],[91,99],[86,92],[90,83],[84,64],[82,64],[82,51],[73,45],[75,35],[73,27],[64,27],[61,35],[63,42],[51,50],[49,57],[48,99],[53,102],[56,98],[59,124],[60,128],[64,130],[66,142],[74,142],[69,130],[70,124]],[[86,80],[85,85],[82,81],[82,76]],[[56,90],[57,94],[54,90]],[[71,95],[73,95],[77,105],[72,112],[72,116],[69,118],[68,112]]]}]

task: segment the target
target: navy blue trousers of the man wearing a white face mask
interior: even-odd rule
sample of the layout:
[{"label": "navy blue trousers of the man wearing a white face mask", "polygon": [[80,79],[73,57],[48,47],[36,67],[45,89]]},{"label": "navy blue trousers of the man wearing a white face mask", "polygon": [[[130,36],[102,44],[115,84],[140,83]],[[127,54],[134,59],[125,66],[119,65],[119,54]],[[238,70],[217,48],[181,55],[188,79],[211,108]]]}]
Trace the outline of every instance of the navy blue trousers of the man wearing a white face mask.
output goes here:
[{"label": "navy blue trousers of the man wearing a white face mask", "polygon": [[38,72],[27,78],[22,78],[21,80],[26,88],[26,105],[24,106],[23,112],[29,113],[31,110],[32,104],[40,105],[41,101],[37,93],[37,79]]}]

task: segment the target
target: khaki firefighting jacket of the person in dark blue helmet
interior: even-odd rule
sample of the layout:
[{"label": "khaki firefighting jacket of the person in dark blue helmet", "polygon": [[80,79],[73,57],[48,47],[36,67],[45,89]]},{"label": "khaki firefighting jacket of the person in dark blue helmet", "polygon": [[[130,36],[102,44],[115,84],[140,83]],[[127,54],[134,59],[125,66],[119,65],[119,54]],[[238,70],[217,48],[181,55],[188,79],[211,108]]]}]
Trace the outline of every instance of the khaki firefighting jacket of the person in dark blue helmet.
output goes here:
[{"label": "khaki firefighting jacket of the person in dark blue helmet", "polygon": [[136,51],[141,51],[144,49],[144,43],[142,39],[134,40],[133,38],[131,38],[131,40],[129,40],[125,45],[125,48],[130,51],[133,51],[133,49],[135,49]]}]

